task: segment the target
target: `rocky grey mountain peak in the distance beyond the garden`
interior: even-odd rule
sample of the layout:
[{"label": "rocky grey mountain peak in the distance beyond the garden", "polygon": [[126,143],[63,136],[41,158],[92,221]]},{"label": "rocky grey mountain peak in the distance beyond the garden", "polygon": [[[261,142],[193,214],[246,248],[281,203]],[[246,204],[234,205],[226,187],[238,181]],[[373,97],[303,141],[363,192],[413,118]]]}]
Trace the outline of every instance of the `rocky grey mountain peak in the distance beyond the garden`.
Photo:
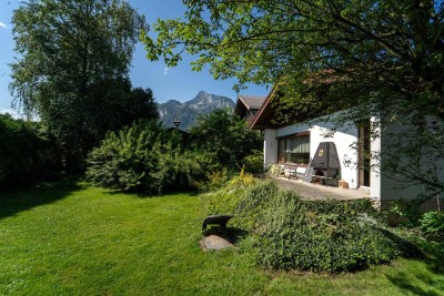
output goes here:
[{"label": "rocky grey mountain peak in the distance beyond the garden", "polygon": [[221,108],[234,108],[234,102],[230,98],[209,94],[200,91],[198,95],[184,103],[170,100],[167,103],[158,104],[160,119],[165,127],[174,126],[173,121],[178,118],[181,130],[189,130],[199,114],[208,114]]}]

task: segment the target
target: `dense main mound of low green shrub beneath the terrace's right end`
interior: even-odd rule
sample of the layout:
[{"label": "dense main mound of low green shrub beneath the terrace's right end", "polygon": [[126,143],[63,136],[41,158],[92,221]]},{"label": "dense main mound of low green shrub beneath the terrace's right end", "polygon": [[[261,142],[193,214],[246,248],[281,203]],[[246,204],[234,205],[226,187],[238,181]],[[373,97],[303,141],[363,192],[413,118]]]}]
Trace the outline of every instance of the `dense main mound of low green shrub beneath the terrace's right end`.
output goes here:
[{"label": "dense main mound of low green shrub beneath the terrace's right end", "polygon": [[402,239],[350,202],[304,202],[280,192],[263,228],[258,237],[259,258],[274,268],[356,271],[403,254]]}]

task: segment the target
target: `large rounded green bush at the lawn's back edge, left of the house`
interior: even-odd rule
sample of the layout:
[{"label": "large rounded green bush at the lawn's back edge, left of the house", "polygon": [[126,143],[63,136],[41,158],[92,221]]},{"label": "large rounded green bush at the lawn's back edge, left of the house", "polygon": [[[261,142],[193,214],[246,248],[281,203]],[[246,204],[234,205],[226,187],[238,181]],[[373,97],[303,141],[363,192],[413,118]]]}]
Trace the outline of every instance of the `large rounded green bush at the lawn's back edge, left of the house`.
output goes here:
[{"label": "large rounded green bush at the lawn's back edge, left of the house", "polygon": [[182,151],[180,134],[154,121],[139,121],[110,132],[89,154],[87,176],[104,187],[157,192],[195,186],[205,180],[212,157]]}]

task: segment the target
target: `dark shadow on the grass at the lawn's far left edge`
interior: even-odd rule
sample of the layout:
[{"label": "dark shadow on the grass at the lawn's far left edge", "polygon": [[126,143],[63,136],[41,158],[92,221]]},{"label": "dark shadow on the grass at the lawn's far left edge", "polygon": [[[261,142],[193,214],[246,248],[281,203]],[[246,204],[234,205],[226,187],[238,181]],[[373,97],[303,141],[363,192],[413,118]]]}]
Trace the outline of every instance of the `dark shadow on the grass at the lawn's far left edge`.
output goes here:
[{"label": "dark shadow on the grass at the lawn's far left edge", "polygon": [[78,181],[78,176],[69,176],[36,188],[0,192],[0,220],[39,205],[62,200],[72,192],[84,187]]}]

